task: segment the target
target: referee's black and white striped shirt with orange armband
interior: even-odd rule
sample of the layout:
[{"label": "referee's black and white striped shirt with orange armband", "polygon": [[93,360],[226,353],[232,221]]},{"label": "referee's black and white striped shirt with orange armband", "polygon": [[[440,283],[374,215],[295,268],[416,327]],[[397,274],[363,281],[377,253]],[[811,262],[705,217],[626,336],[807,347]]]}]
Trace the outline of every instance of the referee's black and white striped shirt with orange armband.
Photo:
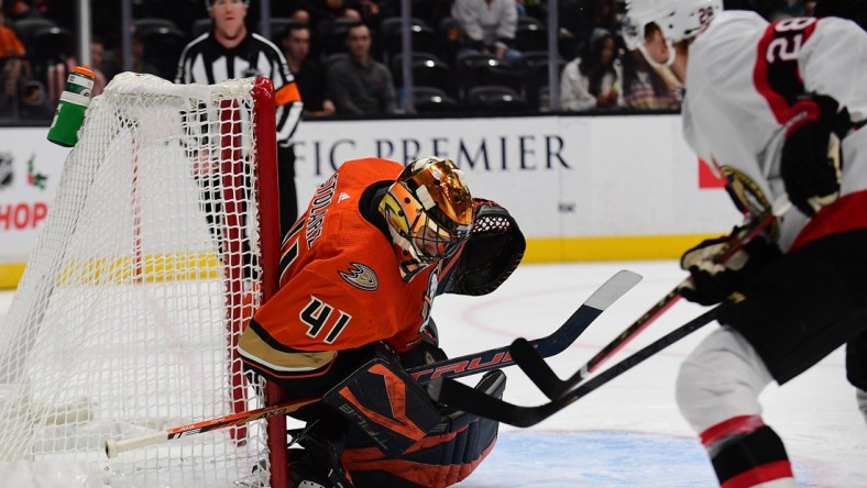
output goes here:
[{"label": "referee's black and white striped shirt with orange armband", "polygon": [[239,45],[226,48],[213,38],[213,32],[202,34],[187,44],[180,54],[175,82],[213,85],[251,76],[264,76],[274,84],[277,144],[289,145],[304,103],[286,58],[265,37],[248,33]]}]

